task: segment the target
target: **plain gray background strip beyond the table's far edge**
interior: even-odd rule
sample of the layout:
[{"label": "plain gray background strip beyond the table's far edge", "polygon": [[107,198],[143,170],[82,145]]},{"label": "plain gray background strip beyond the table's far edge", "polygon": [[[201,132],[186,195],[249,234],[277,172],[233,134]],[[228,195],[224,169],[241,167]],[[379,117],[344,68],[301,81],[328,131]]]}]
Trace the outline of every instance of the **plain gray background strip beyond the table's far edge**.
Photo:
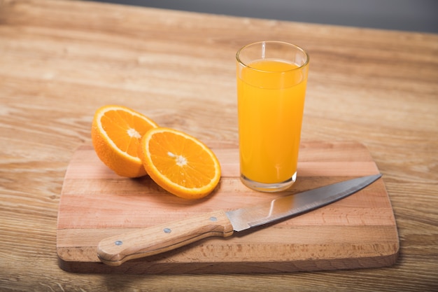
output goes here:
[{"label": "plain gray background strip beyond the table's far edge", "polygon": [[97,1],[252,18],[438,33],[438,0]]}]

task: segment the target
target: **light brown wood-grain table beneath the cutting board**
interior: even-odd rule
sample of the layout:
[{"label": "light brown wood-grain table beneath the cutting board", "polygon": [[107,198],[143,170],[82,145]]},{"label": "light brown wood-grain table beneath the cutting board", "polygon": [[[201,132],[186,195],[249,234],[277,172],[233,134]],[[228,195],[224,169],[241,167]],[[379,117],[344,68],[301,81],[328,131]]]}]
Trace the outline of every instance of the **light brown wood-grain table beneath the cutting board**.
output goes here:
[{"label": "light brown wood-grain table beneath the cutting board", "polygon": [[[393,204],[390,267],[286,274],[75,274],[58,267],[59,195],[94,111],[124,104],[235,142],[234,54],[309,51],[303,141],[358,141]],[[0,1],[1,291],[432,291],[438,288],[438,36],[80,1]]]}]

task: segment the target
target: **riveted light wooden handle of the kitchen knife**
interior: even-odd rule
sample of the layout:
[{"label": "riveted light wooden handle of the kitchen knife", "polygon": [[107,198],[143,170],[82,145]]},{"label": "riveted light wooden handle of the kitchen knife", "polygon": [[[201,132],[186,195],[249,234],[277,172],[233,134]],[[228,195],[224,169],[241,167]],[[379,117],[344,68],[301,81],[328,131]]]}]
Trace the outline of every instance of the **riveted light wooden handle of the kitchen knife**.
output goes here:
[{"label": "riveted light wooden handle of the kitchen knife", "polygon": [[97,256],[107,265],[121,265],[127,260],[153,256],[212,236],[228,237],[233,227],[224,211],[156,225],[102,239]]}]

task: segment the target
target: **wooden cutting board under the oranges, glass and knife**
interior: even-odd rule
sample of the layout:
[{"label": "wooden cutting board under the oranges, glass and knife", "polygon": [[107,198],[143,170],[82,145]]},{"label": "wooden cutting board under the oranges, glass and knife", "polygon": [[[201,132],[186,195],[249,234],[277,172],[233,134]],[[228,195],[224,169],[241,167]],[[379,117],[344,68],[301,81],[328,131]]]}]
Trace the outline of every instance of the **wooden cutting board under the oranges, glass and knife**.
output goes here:
[{"label": "wooden cutting board under the oranges, glass and knife", "polygon": [[[119,267],[100,263],[97,244],[105,237],[284,195],[257,193],[242,185],[236,145],[209,146],[222,165],[222,179],[211,195],[196,201],[166,193],[148,176],[117,176],[100,162],[92,146],[78,148],[59,202],[59,266],[69,272],[94,273],[272,273],[382,267],[397,260],[399,239],[383,177],[344,200],[253,232],[203,239]],[[362,144],[306,142],[300,149],[298,179],[290,190],[300,192],[377,173]]]}]

